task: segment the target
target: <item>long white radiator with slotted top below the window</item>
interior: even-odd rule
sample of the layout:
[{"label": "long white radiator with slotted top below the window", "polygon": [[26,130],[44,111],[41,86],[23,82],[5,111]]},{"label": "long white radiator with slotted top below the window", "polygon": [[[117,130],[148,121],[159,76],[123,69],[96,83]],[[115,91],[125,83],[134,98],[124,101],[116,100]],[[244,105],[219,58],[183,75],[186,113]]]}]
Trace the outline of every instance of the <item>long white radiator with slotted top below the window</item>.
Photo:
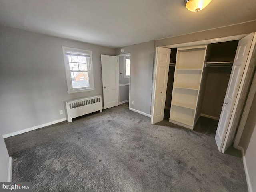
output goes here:
[{"label": "long white radiator with slotted top below the window", "polygon": [[72,118],[86,115],[95,111],[102,112],[100,95],[67,100],[64,101],[64,106],[68,122],[72,122]]}]

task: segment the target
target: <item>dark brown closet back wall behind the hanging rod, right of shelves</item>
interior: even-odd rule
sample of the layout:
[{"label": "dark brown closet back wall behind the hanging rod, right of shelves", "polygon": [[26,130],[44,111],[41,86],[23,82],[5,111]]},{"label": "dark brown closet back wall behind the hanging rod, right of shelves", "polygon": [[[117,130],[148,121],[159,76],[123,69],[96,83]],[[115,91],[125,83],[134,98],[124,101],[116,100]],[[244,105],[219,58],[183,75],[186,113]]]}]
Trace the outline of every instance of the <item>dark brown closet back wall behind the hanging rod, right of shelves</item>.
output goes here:
[{"label": "dark brown closet back wall behind the hanging rod, right of shelves", "polygon": [[206,86],[204,91],[201,116],[219,120],[228,82],[234,62],[238,41],[208,44],[206,62],[223,62],[218,66],[204,68]]}]

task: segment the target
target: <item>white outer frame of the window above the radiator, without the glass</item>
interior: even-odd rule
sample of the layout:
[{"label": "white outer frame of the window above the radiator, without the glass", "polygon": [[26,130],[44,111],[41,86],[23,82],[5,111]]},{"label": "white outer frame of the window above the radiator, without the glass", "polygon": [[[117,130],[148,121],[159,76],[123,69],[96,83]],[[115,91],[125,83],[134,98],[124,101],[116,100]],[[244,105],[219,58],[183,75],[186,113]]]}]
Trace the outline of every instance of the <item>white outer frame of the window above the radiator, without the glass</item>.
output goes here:
[{"label": "white outer frame of the window above the radiator, without the glass", "polygon": [[[74,51],[74,52],[81,52],[81,53],[90,54],[90,63],[88,64],[89,70],[87,71],[88,72],[89,85],[90,85],[89,87],[84,87],[84,88],[73,88],[72,87],[72,77],[71,77],[71,74],[70,74],[68,56],[66,55],[66,51]],[[77,49],[77,48],[71,48],[71,47],[62,47],[62,52],[63,52],[65,70],[66,70],[68,93],[94,91],[95,88],[94,88],[94,77],[93,77],[93,67],[92,67],[93,66],[93,64],[92,64],[92,51]]]}]

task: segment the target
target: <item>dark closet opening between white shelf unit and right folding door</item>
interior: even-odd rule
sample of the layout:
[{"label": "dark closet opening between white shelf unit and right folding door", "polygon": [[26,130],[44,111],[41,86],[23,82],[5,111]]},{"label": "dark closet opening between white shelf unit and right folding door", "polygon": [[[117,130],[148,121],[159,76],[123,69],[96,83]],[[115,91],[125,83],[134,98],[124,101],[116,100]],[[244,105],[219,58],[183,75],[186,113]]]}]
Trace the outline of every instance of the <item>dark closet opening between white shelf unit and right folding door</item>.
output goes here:
[{"label": "dark closet opening between white shelf unit and right folding door", "polygon": [[200,118],[194,130],[215,136],[239,40],[208,44]]}]

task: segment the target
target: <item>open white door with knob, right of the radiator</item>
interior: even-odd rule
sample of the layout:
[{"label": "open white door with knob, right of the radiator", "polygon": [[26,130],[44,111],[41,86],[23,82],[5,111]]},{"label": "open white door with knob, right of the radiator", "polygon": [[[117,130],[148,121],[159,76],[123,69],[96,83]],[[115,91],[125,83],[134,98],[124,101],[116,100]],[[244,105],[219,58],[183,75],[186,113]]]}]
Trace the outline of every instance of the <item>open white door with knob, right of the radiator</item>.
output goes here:
[{"label": "open white door with knob, right of the radiator", "polygon": [[118,106],[118,57],[101,55],[104,109]]}]

